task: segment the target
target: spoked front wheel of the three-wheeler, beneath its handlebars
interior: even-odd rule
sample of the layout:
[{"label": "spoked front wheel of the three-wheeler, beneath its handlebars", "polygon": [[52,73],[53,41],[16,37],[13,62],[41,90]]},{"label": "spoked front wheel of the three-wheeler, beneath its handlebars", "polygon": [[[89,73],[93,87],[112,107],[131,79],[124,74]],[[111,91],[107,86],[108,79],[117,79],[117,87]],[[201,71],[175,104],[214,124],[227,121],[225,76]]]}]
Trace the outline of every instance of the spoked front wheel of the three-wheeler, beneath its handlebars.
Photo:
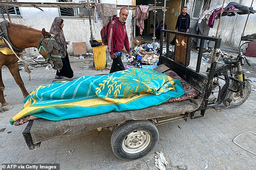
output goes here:
[{"label": "spoked front wheel of the three-wheeler, beneath its handlebars", "polygon": [[[251,94],[251,90],[252,90],[252,84],[251,84],[250,80],[245,80],[245,85],[246,86],[243,89],[243,97],[240,96],[239,92],[228,91],[226,98],[223,100],[223,104],[225,104],[225,106],[229,106],[229,102],[226,101],[227,98],[231,98],[231,100],[233,100],[230,103],[229,108],[239,107],[241,104],[243,104],[248,99],[249,95]],[[237,84],[233,84],[233,86],[231,88],[237,89]]]}]

